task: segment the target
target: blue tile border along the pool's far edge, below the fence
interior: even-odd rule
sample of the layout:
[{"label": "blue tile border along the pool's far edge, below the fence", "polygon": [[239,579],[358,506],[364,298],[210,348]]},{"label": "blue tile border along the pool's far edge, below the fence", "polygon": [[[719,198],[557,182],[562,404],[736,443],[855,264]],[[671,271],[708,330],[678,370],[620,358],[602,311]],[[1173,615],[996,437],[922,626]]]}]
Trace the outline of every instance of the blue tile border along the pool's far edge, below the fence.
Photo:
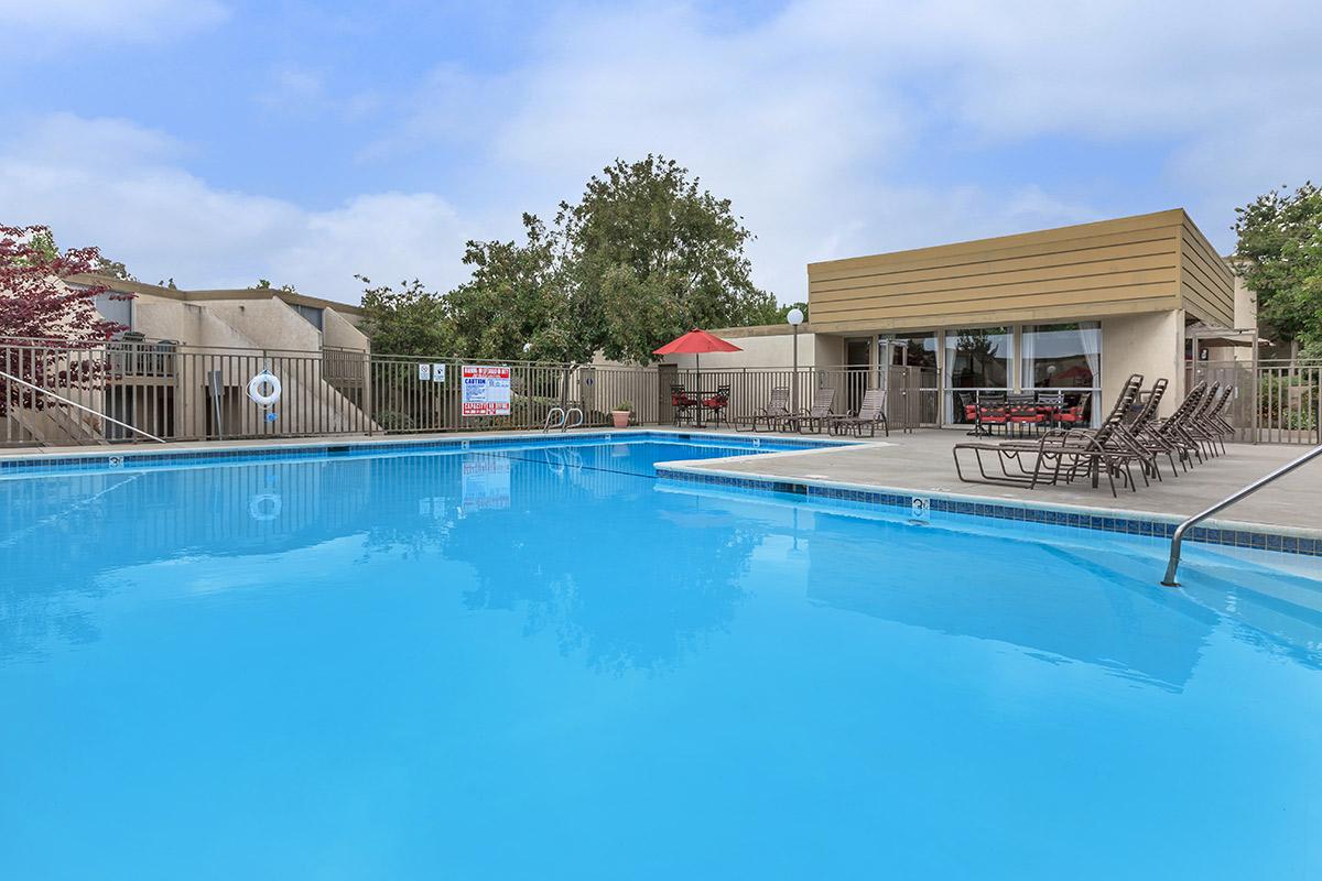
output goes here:
[{"label": "blue tile border along the pool's far edge, below the fence", "polygon": [[349,456],[381,456],[383,453],[408,452],[448,452],[465,449],[522,449],[535,446],[562,446],[566,442],[576,441],[701,441],[714,442],[724,446],[748,449],[752,452],[795,452],[808,449],[824,449],[834,446],[851,446],[857,441],[839,441],[832,439],[810,437],[758,437],[756,435],[727,435],[715,432],[683,432],[683,431],[590,431],[575,432],[572,435],[483,435],[480,437],[428,437],[426,440],[411,439],[369,439],[344,441],[308,441],[284,442],[271,446],[225,446],[225,448],[189,448],[161,450],[160,453],[143,453],[114,449],[98,450],[95,453],[70,453],[69,456],[3,456],[0,457],[0,477],[26,473],[58,474],[74,472],[100,472],[115,469],[135,469],[152,465],[205,465],[206,462],[222,461],[266,461],[288,458],[333,458]]}]

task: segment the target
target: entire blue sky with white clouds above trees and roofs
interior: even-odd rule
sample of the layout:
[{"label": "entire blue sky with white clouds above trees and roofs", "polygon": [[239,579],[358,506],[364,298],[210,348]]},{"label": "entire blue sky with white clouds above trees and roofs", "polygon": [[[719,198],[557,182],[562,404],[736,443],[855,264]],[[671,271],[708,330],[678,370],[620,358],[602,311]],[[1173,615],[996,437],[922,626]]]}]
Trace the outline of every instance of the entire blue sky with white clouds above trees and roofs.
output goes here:
[{"label": "entire blue sky with white clouds above trees and roofs", "polygon": [[140,280],[356,302],[467,277],[616,157],[805,264],[1322,180],[1322,7],[0,0],[0,222]]}]

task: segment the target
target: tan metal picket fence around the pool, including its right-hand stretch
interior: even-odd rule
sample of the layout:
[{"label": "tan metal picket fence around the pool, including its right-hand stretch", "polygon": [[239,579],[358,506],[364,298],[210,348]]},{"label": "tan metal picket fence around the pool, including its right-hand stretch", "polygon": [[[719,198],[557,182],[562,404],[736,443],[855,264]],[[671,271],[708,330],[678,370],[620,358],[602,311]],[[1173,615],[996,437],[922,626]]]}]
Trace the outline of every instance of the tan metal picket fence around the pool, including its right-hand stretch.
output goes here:
[{"label": "tan metal picket fence around the pool, including its right-hand stretch", "polygon": [[[465,416],[463,367],[497,363],[509,369],[509,413]],[[279,403],[267,408],[247,394],[249,380],[263,370],[283,386]],[[1322,442],[1322,359],[1263,362],[1256,369],[1252,362],[1200,362],[1186,379],[1235,387],[1229,417],[1237,440]],[[633,424],[652,425],[673,419],[672,384],[705,394],[728,387],[731,419],[765,407],[776,387],[795,390],[802,409],[833,388],[833,412],[845,413],[855,411],[863,392],[875,386],[886,392],[891,431],[943,423],[940,375],[920,367],[876,372],[740,367],[698,374],[665,365],[490,362],[348,349],[0,339],[0,445],[143,440],[136,432],[189,441],[538,429],[553,408],[571,405],[582,408],[584,427],[604,427],[611,411],[625,403]]]}]

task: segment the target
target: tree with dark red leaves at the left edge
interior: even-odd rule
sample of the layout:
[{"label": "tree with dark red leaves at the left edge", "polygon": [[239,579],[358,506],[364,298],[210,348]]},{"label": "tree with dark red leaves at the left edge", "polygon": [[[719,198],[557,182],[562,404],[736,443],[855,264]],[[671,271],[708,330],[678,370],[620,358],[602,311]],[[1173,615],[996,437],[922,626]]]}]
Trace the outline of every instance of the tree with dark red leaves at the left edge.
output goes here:
[{"label": "tree with dark red leaves at the left edge", "polygon": [[[99,384],[104,358],[94,347],[128,328],[97,312],[95,300],[108,287],[69,279],[103,264],[94,247],[61,254],[45,226],[0,226],[0,370],[53,391]],[[20,383],[3,384],[8,394],[0,395],[0,415],[9,405],[44,409],[52,403]]]}]

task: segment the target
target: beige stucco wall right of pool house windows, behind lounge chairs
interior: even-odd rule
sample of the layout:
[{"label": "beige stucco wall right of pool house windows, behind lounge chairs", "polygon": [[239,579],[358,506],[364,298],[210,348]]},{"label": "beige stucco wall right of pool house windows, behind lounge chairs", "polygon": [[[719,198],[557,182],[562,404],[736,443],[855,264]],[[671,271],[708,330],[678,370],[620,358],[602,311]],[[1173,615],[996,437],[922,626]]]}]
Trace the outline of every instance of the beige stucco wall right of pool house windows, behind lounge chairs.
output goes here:
[{"label": "beige stucco wall right of pool house windows, behind lounge chairs", "polygon": [[1101,320],[1101,402],[1105,413],[1129,374],[1142,374],[1144,387],[1170,380],[1161,413],[1170,415],[1185,395],[1185,313],[1179,309]]}]

